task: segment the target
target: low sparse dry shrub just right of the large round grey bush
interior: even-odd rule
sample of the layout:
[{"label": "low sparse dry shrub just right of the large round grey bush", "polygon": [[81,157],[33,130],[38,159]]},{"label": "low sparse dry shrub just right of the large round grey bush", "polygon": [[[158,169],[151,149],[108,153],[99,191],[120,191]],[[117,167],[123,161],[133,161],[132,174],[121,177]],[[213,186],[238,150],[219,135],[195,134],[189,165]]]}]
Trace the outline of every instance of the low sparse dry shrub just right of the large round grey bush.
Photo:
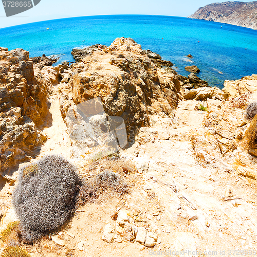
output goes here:
[{"label": "low sparse dry shrub just right of the large round grey bush", "polygon": [[91,181],[85,181],[78,195],[78,205],[93,203],[100,196],[106,198],[107,194],[123,195],[129,193],[128,185],[121,180],[119,174],[105,170],[98,173]]}]

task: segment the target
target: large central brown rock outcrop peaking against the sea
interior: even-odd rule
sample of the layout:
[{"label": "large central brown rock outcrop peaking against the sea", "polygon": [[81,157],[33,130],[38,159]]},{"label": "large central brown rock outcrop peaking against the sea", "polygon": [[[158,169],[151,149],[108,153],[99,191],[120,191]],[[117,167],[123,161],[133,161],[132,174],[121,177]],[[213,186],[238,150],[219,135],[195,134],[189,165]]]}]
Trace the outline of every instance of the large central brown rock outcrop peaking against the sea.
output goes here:
[{"label": "large central brown rock outcrop peaking against the sea", "polygon": [[124,119],[128,134],[129,128],[147,126],[149,114],[173,116],[182,99],[179,81],[174,74],[160,72],[134,40],[118,38],[83,57],[71,65],[68,84],[59,86],[63,118],[70,106],[97,97],[108,116]]}]

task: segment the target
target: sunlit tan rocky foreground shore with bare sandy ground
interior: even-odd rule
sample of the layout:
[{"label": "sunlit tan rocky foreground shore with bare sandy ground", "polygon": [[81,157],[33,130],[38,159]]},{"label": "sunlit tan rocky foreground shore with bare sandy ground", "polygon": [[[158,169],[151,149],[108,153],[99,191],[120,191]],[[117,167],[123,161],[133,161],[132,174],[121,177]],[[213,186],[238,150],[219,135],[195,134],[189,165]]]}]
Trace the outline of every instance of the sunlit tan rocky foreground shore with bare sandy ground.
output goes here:
[{"label": "sunlit tan rocky foreground shore with bare sandy ground", "polygon": [[[0,48],[0,254],[10,245],[31,257],[253,253],[257,153],[245,148],[252,123],[242,107],[256,99],[257,76],[225,81],[221,90],[158,66],[165,61],[155,64],[160,57],[130,38],[93,48],[55,67],[33,63],[25,50]],[[84,112],[81,104],[91,99],[102,101],[101,112]],[[100,141],[83,122],[107,141],[112,117],[124,120],[130,144],[95,158]],[[81,126],[84,144],[72,137]],[[12,207],[19,170],[46,154],[76,165],[86,185],[114,172],[128,190],[93,198],[91,188],[59,230],[33,245],[15,234],[6,240],[7,226],[19,219]]]}]

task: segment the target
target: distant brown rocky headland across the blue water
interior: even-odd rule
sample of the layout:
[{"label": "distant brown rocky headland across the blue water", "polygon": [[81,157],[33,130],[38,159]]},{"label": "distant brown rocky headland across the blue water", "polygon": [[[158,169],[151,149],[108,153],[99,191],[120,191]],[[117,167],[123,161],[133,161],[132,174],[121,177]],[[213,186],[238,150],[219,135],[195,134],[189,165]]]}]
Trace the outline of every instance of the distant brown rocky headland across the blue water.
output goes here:
[{"label": "distant brown rocky headland across the blue water", "polygon": [[189,18],[257,29],[257,2],[214,3],[200,7]]}]

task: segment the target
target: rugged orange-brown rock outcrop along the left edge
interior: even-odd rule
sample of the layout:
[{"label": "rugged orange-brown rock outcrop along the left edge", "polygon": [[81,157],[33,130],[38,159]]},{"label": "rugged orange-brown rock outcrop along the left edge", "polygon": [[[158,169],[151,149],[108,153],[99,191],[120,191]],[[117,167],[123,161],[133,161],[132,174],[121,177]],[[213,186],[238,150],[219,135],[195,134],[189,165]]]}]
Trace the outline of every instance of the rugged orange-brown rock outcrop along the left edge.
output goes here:
[{"label": "rugged orange-brown rock outcrop along the left edge", "polygon": [[0,170],[35,156],[46,140],[37,129],[47,116],[47,85],[40,70],[33,69],[29,52],[0,48]]}]

